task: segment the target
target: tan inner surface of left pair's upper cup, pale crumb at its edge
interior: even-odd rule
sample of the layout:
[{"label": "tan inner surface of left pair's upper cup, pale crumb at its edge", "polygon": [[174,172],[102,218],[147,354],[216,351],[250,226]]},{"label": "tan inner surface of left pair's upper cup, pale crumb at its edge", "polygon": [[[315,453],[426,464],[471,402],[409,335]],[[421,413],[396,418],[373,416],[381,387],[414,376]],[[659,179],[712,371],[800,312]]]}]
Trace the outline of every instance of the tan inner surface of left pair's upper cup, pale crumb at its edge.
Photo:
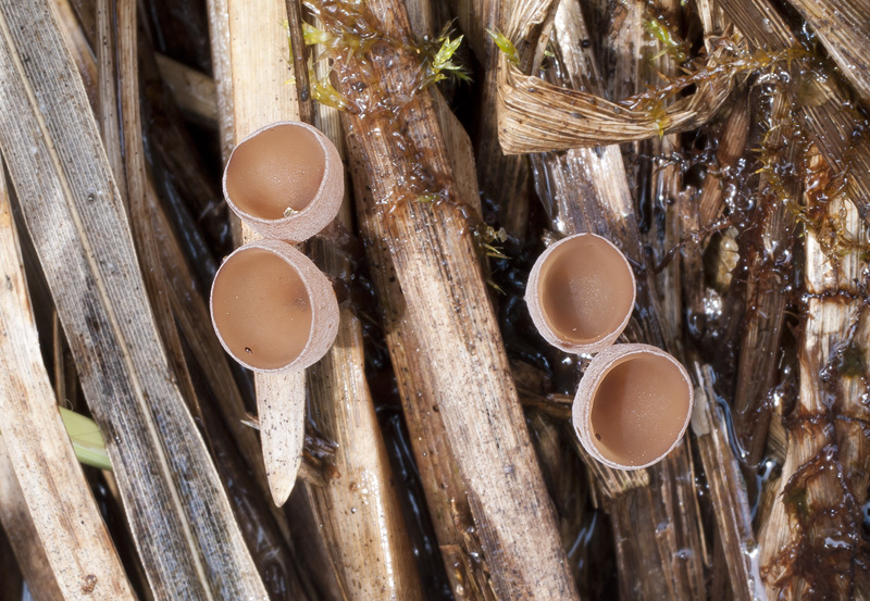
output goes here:
[{"label": "tan inner surface of left pair's upper cup, pale crumb at its edge", "polygon": [[248,215],[288,216],[316,197],[326,156],[316,135],[294,124],[263,129],[241,142],[226,166],[226,193]]}]

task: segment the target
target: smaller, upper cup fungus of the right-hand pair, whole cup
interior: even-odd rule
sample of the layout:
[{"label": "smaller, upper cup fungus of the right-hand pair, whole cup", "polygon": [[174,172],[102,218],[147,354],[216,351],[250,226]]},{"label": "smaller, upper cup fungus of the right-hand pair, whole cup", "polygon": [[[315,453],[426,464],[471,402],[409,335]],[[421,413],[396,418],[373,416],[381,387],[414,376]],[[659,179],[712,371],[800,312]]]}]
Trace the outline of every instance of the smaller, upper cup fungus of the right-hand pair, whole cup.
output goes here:
[{"label": "smaller, upper cup fungus of the right-hand pair, whole cup", "polygon": [[616,342],[634,309],[634,274],[625,255],[595,234],[569,236],[538,256],[525,291],[540,335],[570,353]]}]

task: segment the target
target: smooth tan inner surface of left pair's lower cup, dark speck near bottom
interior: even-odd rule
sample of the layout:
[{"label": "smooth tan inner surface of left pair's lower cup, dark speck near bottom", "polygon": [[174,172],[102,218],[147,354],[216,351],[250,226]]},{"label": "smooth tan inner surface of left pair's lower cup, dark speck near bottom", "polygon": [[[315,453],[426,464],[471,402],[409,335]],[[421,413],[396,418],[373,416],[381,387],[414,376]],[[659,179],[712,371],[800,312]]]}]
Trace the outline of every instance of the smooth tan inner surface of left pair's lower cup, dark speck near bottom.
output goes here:
[{"label": "smooth tan inner surface of left pair's lower cup, dark speck near bottom", "polygon": [[229,352],[259,370],[279,370],[308,343],[311,299],[296,268],[261,248],[236,252],[212,289],[214,323]]}]

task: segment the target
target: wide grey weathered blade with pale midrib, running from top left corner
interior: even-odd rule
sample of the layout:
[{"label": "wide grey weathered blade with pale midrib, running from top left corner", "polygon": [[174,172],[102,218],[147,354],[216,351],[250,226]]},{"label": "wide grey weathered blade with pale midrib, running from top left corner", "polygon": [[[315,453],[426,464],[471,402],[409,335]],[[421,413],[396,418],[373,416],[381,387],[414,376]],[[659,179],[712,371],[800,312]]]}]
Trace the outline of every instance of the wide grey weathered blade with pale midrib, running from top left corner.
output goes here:
[{"label": "wide grey weathered blade with pale midrib, running from top left corner", "polygon": [[50,8],[4,2],[0,13],[0,145],[83,388],[107,434],[151,588],[190,599],[262,598],[217,474],[156,343],[126,216]]}]

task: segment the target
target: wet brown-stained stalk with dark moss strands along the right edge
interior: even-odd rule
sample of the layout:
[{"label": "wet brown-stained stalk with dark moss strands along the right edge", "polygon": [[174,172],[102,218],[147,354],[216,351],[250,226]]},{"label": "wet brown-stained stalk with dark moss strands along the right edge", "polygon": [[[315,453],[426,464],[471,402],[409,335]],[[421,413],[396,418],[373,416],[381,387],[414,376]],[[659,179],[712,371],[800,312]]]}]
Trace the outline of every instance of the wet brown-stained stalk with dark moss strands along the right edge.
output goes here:
[{"label": "wet brown-stained stalk with dark moss strands along the right edge", "polygon": [[854,204],[824,185],[833,170],[815,149],[808,166],[807,210],[854,247],[825,250],[824,230],[807,227],[800,389],[786,416],[778,493],[761,525],[761,576],[770,598],[805,599],[823,590],[831,599],[867,599],[861,508],[870,485],[870,410],[862,399],[870,368],[858,349],[870,335],[862,251],[870,237]]}]

